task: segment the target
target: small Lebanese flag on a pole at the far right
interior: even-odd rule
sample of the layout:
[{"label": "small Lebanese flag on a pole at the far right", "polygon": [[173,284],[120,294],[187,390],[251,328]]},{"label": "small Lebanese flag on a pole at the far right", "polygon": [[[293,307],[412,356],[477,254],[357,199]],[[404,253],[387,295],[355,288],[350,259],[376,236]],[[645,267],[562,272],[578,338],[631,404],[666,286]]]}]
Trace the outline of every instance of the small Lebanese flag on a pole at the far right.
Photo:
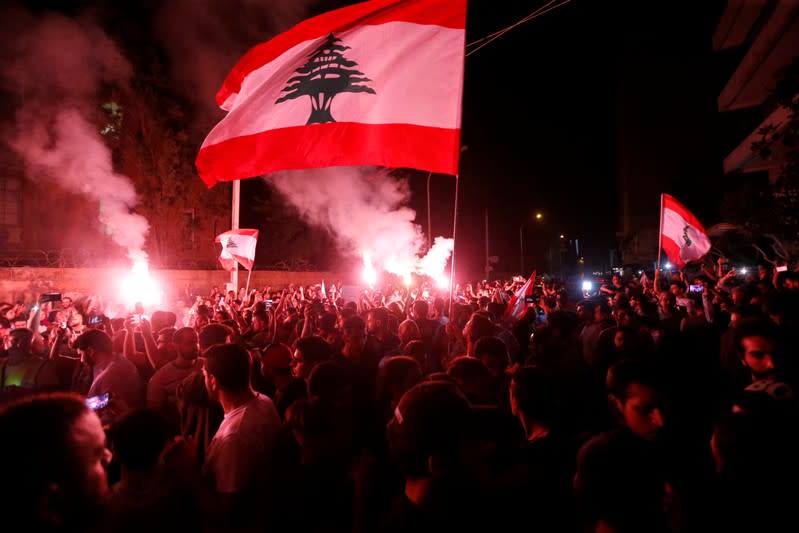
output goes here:
[{"label": "small Lebanese flag on a pole at the far right", "polygon": [[710,250],[705,227],[680,202],[668,194],[662,195],[660,214],[661,246],[677,268],[701,260]]}]

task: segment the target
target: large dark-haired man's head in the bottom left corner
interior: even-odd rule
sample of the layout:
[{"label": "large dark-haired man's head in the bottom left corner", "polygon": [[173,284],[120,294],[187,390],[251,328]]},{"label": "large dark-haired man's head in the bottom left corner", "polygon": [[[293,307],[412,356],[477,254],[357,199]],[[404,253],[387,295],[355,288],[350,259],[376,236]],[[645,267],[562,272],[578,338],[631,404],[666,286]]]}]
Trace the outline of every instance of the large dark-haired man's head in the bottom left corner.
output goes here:
[{"label": "large dark-haired man's head in the bottom left corner", "polygon": [[7,458],[0,513],[25,520],[31,531],[81,530],[108,495],[105,433],[75,394],[34,395],[4,406],[0,456]]}]

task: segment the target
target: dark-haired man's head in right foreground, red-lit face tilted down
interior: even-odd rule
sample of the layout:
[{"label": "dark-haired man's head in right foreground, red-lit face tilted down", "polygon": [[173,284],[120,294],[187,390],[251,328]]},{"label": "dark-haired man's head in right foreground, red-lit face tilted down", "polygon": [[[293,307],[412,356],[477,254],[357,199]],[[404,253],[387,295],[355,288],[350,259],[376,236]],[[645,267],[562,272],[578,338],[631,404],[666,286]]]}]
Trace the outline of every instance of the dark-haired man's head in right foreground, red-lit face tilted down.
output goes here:
[{"label": "dark-haired man's head in right foreground, red-lit face tilted down", "polygon": [[633,433],[655,440],[663,428],[661,381],[649,363],[623,359],[610,367],[608,400]]}]

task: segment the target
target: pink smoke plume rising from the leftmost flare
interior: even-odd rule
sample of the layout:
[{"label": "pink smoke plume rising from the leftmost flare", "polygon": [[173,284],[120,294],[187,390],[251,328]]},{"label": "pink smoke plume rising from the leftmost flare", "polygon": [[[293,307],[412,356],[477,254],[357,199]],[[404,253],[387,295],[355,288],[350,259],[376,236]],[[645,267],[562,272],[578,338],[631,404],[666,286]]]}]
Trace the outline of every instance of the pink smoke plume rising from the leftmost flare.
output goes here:
[{"label": "pink smoke plume rising from the leftmost flare", "polygon": [[97,201],[106,233],[131,259],[144,260],[149,225],[131,213],[135,188],[114,172],[111,152],[90,120],[99,107],[98,89],[127,85],[130,64],[87,18],[34,19],[22,11],[13,17],[24,33],[6,36],[12,59],[2,70],[3,82],[21,102],[9,144],[30,178]]}]

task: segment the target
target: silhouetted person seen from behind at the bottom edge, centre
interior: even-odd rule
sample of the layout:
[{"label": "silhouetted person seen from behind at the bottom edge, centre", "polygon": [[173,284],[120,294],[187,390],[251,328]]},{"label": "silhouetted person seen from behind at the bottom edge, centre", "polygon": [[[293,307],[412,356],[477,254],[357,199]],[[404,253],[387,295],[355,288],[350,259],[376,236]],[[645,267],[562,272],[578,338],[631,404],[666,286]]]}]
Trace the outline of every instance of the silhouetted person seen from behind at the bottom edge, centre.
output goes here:
[{"label": "silhouetted person seen from behind at the bottom edge, centre", "polygon": [[487,470],[486,420],[457,385],[422,382],[400,399],[388,423],[389,451],[404,479],[380,531],[493,531],[506,515],[491,505],[478,472]]}]

